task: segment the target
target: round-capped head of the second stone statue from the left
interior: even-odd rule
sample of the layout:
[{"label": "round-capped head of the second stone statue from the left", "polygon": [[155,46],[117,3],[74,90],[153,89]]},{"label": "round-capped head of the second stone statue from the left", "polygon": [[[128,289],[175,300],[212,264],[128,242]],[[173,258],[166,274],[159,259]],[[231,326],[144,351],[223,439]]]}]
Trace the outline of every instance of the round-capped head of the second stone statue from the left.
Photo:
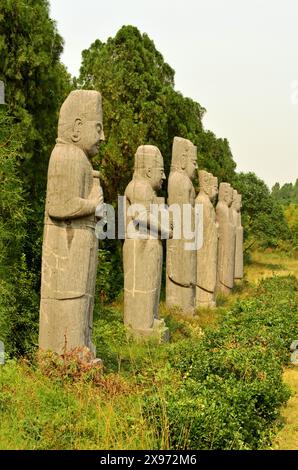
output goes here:
[{"label": "round-capped head of the second stone statue from the left", "polygon": [[154,145],[140,145],[135,153],[135,175],[146,178],[152,189],[158,191],[166,179],[163,157]]}]

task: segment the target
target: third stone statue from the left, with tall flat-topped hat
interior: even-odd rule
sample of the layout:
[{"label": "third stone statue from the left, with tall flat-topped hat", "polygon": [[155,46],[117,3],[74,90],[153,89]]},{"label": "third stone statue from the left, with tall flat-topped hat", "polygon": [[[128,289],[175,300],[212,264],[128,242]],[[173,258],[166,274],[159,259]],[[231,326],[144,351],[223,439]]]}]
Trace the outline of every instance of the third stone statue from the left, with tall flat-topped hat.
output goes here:
[{"label": "third stone statue from the left, with tall flat-topped hat", "polygon": [[[176,204],[182,215],[181,237],[167,241],[166,303],[177,306],[185,314],[193,314],[195,306],[196,251],[187,250],[183,228],[189,222],[194,229],[195,189],[192,179],[197,169],[197,148],[190,140],[175,137],[168,182],[168,205]],[[183,205],[192,209],[191,221]],[[175,227],[174,227],[175,230]]]}]

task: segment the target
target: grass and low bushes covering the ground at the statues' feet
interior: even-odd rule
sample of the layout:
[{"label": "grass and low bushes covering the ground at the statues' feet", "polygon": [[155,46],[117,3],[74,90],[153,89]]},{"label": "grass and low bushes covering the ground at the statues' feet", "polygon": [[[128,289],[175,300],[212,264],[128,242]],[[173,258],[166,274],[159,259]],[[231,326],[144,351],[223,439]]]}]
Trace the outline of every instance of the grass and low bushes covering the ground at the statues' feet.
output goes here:
[{"label": "grass and low bushes covering the ground at the statues' feet", "polygon": [[[284,298],[274,283],[263,288],[257,283],[288,274],[297,276],[298,260],[254,253],[245,279],[229,298],[219,298],[216,310],[201,310],[189,320],[162,304],[169,345],[128,341],[121,303],[108,306],[94,325],[104,374],[71,357],[8,361],[0,367],[0,449],[196,448],[196,434],[198,448],[221,448],[223,442],[223,448],[245,449],[254,448],[258,433],[267,448],[274,423],[280,422],[280,404],[288,398],[276,362],[284,361],[280,354],[287,356],[284,329],[294,331],[291,315],[286,318],[293,282],[281,279]],[[284,312],[280,319],[279,312]],[[292,396],[272,449],[298,448],[297,376],[297,368],[284,370]],[[253,402],[256,391],[263,397],[261,407]],[[197,427],[191,431],[192,420]],[[173,423],[180,426],[174,437]]]}]

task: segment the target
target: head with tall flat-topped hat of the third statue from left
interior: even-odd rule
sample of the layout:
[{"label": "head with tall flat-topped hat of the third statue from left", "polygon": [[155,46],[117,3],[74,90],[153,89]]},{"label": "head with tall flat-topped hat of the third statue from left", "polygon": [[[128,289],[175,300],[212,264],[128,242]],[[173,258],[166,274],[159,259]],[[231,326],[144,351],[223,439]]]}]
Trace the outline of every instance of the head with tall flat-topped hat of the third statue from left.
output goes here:
[{"label": "head with tall flat-topped hat of the third statue from left", "polygon": [[183,170],[193,179],[197,168],[197,147],[188,139],[174,137],[171,169]]}]

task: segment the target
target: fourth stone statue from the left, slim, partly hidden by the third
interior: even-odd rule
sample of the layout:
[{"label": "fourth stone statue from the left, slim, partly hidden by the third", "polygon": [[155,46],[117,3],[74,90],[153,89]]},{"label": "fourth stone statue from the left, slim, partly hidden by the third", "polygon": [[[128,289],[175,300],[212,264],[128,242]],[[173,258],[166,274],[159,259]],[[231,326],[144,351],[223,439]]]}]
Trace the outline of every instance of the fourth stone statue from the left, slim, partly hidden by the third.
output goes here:
[{"label": "fourth stone statue from the left, slim, partly hidden by the third", "polygon": [[203,206],[203,246],[197,251],[196,307],[215,307],[218,224],[212,200],[217,195],[217,178],[199,171],[200,192],[196,204]]}]

